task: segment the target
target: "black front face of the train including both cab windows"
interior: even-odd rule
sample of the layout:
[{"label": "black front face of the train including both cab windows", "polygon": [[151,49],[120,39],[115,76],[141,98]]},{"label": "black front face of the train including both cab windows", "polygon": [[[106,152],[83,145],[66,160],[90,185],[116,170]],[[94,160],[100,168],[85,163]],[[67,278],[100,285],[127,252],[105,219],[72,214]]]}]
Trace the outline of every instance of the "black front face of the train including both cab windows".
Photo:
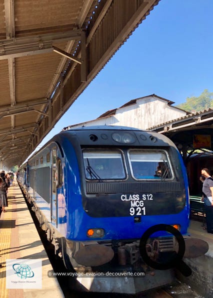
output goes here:
[{"label": "black front face of the train including both cab windows", "polygon": [[174,146],[156,137],[151,144],[143,137],[142,143],[132,141],[124,146],[119,144],[120,133],[114,135],[116,146],[110,146],[108,141],[108,146],[94,143],[82,146],[81,153],[78,151],[85,212],[91,217],[181,212],[185,207],[185,186]]}]

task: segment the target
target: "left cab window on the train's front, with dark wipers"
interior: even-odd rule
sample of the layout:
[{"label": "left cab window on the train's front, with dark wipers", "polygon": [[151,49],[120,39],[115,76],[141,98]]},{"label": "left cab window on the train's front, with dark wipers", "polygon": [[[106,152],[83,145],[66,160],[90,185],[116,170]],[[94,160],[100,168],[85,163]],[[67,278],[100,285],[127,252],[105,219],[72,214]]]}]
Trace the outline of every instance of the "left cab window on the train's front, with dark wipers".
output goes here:
[{"label": "left cab window on the train's front, with dark wipers", "polygon": [[118,150],[83,150],[85,176],[88,180],[122,180],[126,178],[122,154]]}]

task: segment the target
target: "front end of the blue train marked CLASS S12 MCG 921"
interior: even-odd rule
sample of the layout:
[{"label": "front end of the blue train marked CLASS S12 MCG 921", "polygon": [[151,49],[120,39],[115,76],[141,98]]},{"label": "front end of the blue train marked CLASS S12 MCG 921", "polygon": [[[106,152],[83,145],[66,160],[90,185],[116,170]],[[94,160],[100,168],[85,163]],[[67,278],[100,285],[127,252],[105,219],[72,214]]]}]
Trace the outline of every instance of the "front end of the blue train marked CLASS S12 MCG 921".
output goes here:
[{"label": "front end of the blue train marked CLASS S12 MCG 921", "polygon": [[[93,272],[85,286],[132,293],[170,283],[173,271],[150,268],[139,246],[144,232],[158,224],[187,232],[187,177],[175,145],[161,134],[127,127],[83,127],[63,135],[77,160],[67,184],[74,177],[80,188],[67,190],[67,253],[76,271]],[[66,168],[73,173],[69,153]],[[147,240],[147,254],[157,260],[174,251],[175,242],[173,234],[157,231]],[[126,279],[122,272],[132,274]],[[87,283],[84,277],[81,283]]]}]

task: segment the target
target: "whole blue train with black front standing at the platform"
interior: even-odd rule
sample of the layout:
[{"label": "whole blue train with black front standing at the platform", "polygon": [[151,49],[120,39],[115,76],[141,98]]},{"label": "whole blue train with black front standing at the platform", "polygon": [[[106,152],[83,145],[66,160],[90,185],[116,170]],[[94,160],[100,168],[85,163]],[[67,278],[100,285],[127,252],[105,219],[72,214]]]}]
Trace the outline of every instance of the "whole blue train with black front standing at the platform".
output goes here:
[{"label": "whole blue train with black front standing at the platform", "polygon": [[[64,129],[20,167],[18,179],[55,253],[84,274],[78,280],[86,288],[134,293],[173,280],[172,269],[153,270],[139,253],[149,227],[187,232],[187,176],[166,136],[121,126]],[[156,258],[174,245],[172,234],[158,231],[146,248]]]}]

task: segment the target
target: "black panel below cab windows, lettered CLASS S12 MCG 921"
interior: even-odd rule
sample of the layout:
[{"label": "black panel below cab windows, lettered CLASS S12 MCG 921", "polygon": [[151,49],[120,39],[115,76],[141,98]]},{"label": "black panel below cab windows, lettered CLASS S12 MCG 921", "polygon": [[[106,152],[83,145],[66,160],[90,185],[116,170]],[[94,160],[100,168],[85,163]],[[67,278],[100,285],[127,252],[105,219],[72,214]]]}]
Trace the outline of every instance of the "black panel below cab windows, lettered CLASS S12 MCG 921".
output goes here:
[{"label": "black panel below cab windows, lettered CLASS S12 MCG 921", "polygon": [[[88,195],[91,191],[96,194]],[[163,215],[179,213],[185,206],[185,195],[179,182],[87,183],[82,202],[91,217]]]}]

